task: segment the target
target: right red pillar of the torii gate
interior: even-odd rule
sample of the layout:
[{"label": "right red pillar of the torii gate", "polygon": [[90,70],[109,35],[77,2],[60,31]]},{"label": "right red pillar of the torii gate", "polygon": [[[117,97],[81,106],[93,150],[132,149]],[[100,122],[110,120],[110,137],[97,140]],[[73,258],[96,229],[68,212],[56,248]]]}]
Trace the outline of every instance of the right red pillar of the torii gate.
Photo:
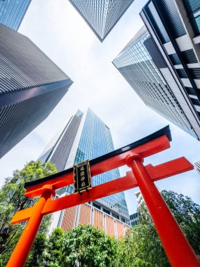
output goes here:
[{"label": "right red pillar of the torii gate", "polygon": [[200,266],[194,250],[137,155],[127,158],[171,266]]}]

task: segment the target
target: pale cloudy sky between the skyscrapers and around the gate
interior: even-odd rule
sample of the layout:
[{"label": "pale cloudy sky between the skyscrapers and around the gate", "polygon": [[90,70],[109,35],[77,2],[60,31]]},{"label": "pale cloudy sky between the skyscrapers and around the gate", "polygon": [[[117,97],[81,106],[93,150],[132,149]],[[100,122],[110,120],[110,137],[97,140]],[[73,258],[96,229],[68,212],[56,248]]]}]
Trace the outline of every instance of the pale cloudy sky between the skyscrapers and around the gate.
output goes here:
[{"label": "pale cloudy sky between the skyscrapers and around the gate", "polygon": [[[51,115],[0,159],[0,185],[15,169],[36,160],[53,135],[77,109],[90,107],[109,126],[114,148],[133,143],[170,125],[171,148],[145,158],[144,164],[161,164],[185,156],[192,164],[200,159],[200,142],[140,100],[112,65],[112,60],[140,30],[145,0],[135,0],[100,43],[90,27],[66,0],[32,0],[19,32],[25,34],[72,80],[65,97]],[[120,169],[124,176],[128,167]],[[195,171],[156,182],[160,190],[173,190],[200,204],[200,175]],[[137,209],[135,192],[125,192],[130,214]]]}]

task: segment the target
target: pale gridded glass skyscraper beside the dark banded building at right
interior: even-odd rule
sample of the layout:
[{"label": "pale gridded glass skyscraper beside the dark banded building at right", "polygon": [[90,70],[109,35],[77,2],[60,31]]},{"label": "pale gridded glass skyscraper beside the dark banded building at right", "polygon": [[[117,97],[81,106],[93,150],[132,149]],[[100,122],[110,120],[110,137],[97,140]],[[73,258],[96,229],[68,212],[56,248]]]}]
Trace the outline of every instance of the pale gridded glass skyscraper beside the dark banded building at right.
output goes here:
[{"label": "pale gridded glass skyscraper beside the dark banded building at right", "polygon": [[145,26],[116,56],[113,64],[149,108],[194,138],[200,138],[194,108],[190,109],[189,99],[182,96],[180,83],[171,74]]}]

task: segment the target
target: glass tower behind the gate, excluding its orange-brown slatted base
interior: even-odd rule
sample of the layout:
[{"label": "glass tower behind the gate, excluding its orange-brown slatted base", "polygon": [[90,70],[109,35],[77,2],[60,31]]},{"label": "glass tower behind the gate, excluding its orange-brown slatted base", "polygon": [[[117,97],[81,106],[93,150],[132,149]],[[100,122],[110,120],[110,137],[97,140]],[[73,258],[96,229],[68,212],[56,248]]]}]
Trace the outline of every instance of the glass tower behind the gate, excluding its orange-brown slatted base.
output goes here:
[{"label": "glass tower behind the gate, excluding its orange-brown slatted base", "polygon": [[[55,163],[59,171],[69,169],[74,164],[85,159],[94,159],[114,150],[109,127],[88,109],[84,114],[80,110],[72,116],[64,130],[58,133],[42,152],[39,160],[50,160]],[[93,186],[100,185],[114,178],[119,178],[119,169],[107,171],[93,177]],[[72,193],[73,187],[61,188],[57,195]],[[97,202],[94,202],[97,204]],[[124,193],[117,193],[98,200],[105,212],[109,212],[122,221],[129,218]]]}]

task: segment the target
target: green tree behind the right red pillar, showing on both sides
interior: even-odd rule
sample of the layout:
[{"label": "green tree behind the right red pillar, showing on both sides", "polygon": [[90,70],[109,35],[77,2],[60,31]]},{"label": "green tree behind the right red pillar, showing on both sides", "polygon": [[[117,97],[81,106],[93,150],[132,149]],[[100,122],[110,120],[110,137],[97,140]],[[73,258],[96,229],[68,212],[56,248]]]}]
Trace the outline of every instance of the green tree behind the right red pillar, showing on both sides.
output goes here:
[{"label": "green tree behind the right red pillar, showing on both sides", "polygon": [[[200,256],[200,206],[182,194],[166,190],[161,194],[190,245]],[[145,203],[138,209],[138,225],[133,226],[119,243],[118,261],[119,266],[124,261],[125,267],[170,266]]]}]

